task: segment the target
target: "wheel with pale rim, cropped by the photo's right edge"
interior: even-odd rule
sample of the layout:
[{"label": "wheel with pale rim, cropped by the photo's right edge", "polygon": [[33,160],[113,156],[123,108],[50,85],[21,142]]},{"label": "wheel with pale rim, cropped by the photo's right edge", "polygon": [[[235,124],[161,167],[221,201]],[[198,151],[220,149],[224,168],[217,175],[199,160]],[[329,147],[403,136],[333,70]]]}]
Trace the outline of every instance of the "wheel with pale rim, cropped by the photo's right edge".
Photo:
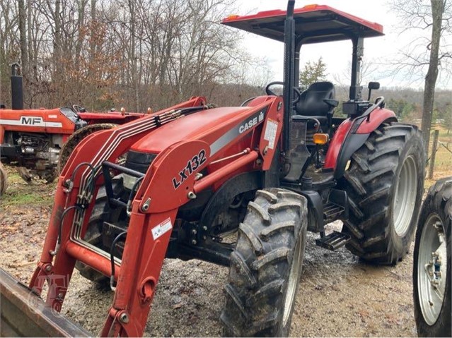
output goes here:
[{"label": "wheel with pale rim, cropped by the photo's right edge", "polygon": [[452,337],[452,177],[429,190],[415,241],[413,298],[419,337]]}]

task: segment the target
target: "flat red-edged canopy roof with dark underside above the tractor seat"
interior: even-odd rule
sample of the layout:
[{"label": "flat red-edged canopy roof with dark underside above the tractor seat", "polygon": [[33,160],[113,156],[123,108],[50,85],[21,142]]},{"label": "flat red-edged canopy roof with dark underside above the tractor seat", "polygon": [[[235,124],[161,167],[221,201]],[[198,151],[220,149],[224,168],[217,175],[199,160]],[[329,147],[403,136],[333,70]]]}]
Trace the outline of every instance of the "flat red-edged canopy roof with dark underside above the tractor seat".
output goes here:
[{"label": "flat red-edged canopy roof with dark underside above the tractor seat", "polygon": [[[229,16],[221,23],[284,42],[286,11],[265,11],[250,16]],[[302,44],[383,35],[383,26],[330,6],[308,5],[294,10],[295,36]]]}]

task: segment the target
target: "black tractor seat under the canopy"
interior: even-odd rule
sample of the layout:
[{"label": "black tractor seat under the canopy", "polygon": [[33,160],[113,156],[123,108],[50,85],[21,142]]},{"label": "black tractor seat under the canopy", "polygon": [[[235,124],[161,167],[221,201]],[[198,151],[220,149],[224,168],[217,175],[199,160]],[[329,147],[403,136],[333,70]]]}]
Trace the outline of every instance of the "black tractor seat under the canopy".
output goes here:
[{"label": "black tractor seat under the canopy", "polygon": [[296,103],[296,114],[318,119],[320,123],[326,123],[327,114],[334,107],[326,104],[324,99],[335,98],[335,86],[330,82],[316,82],[301,93],[299,102]]}]

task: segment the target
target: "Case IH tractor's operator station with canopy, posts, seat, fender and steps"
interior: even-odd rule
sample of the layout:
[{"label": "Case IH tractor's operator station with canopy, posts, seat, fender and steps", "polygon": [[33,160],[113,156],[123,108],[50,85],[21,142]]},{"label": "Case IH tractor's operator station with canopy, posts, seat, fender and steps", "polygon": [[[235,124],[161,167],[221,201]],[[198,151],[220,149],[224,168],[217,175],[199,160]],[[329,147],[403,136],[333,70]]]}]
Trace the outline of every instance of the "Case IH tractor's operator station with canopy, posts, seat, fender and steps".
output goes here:
[{"label": "Case IH tractor's operator station with canopy, posts, seat, fender and steps", "polygon": [[[369,83],[367,100],[362,99],[362,87],[359,83],[364,39],[382,36],[383,26],[330,6],[308,5],[294,9],[294,3],[294,0],[289,0],[286,11],[229,16],[222,23],[284,42],[284,82],[279,83],[284,85],[284,167],[280,184],[308,199],[310,215],[313,215],[309,229],[320,233],[323,239],[325,224],[337,218],[347,219],[349,214],[347,194],[337,188],[337,181],[344,175],[347,162],[369,138],[371,131],[383,121],[397,120],[393,112],[387,109],[378,109],[378,114],[371,116],[372,111],[384,108],[382,97],[378,98],[375,104],[369,102],[371,90],[378,89],[379,83]],[[352,42],[349,100],[343,102],[344,114],[347,114],[349,119],[333,119],[334,109],[339,102],[335,99],[332,83],[313,83],[300,92],[301,47],[346,40]],[[272,84],[276,83],[267,85],[267,95],[274,95],[274,92],[269,90]],[[370,123],[370,128],[364,128],[365,120]],[[318,133],[325,133],[324,139],[328,140],[316,144],[313,137],[319,135]],[[323,159],[322,153],[326,155]],[[348,236],[342,236],[340,240],[335,238],[338,246],[348,240]],[[318,244],[324,246],[321,241]]]}]

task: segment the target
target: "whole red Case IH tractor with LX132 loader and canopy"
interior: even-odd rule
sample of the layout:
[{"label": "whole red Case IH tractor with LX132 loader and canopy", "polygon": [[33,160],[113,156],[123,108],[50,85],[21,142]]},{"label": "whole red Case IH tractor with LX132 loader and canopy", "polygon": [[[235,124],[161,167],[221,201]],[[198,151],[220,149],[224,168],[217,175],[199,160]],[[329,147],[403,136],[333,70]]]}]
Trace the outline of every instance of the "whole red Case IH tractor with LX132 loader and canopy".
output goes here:
[{"label": "whole red Case IH tractor with LX132 loader and canopy", "polygon": [[[284,82],[241,107],[195,97],[93,133],[59,176],[30,288],[41,294],[47,279],[47,304],[59,310],[74,267],[109,283],[115,298],[102,336],[144,333],[164,258],[229,267],[224,335],[286,336],[306,231],[319,246],[346,246],[376,264],[395,264],[410,249],[423,191],[421,133],[398,123],[383,97],[363,99],[357,82],[364,39],[383,35],[381,25],[328,6],[294,10],[294,0],[287,11],[223,23],[284,42]],[[346,119],[334,116],[332,83],[300,92],[297,80],[303,45],[340,40],[352,41]],[[274,92],[281,84],[282,97]],[[342,231],[327,233],[337,219]]]}]

